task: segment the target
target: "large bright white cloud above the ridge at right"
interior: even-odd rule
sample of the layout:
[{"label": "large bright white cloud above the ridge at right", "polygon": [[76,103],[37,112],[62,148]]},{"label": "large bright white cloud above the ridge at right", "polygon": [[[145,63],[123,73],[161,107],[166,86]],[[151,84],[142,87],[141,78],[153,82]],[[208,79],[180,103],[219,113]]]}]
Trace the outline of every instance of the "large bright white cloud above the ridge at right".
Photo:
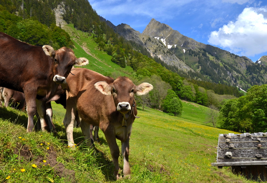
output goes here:
[{"label": "large bright white cloud above the ridge at right", "polygon": [[267,51],[267,8],[245,8],[236,19],[209,35],[208,42],[231,52],[254,56]]}]

